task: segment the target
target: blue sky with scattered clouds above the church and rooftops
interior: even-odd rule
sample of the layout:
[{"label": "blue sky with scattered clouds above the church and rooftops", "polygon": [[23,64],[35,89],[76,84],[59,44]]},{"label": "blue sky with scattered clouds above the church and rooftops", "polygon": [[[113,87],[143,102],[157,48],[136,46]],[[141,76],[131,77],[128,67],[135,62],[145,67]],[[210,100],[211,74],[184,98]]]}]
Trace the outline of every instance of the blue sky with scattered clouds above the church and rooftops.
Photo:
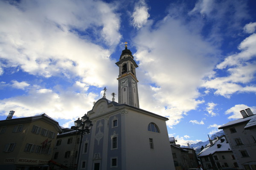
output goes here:
[{"label": "blue sky with scattered clouds above the church and rooftops", "polygon": [[[118,93],[128,42],[140,108],[177,144],[256,113],[254,0],[0,0],[0,120],[46,113],[63,127]],[[118,98],[116,97],[116,102]]]}]

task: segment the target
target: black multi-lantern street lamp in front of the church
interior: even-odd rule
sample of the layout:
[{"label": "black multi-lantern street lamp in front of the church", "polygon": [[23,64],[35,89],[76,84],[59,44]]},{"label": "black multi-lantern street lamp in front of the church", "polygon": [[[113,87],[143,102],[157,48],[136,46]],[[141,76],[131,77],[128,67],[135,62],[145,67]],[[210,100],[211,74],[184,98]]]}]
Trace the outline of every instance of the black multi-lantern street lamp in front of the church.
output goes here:
[{"label": "black multi-lantern street lamp in front of the church", "polygon": [[81,153],[81,144],[82,144],[82,140],[83,140],[83,136],[85,134],[89,134],[91,128],[93,127],[92,121],[89,120],[89,117],[84,114],[84,116],[81,117],[81,119],[77,119],[76,121],[74,121],[75,123],[75,127],[76,130],[78,131],[78,134],[81,135],[80,137],[80,143],[79,143],[79,150],[78,150],[78,156],[77,156],[77,169],[78,169],[78,165],[79,165],[79,157],[80,157],[80,153]]}]

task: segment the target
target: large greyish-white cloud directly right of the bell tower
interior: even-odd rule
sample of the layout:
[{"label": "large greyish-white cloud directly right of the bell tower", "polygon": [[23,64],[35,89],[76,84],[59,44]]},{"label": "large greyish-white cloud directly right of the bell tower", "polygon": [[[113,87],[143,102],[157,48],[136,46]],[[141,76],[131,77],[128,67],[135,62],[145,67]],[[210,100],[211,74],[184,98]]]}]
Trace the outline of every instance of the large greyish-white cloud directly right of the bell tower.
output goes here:
[{"label": "large greyish-white cloud directly right of the bell tower", "polygon": [[[197,99],[198,86],[215,67],[218,50],[169,16],[154,29],[141,28],[134,42],[134,57],[140,62],[140,106],[169,117],[167,125],[172,127],[183,114],[204,102]],[[154,88],[148,88],[148,84]]]}]

